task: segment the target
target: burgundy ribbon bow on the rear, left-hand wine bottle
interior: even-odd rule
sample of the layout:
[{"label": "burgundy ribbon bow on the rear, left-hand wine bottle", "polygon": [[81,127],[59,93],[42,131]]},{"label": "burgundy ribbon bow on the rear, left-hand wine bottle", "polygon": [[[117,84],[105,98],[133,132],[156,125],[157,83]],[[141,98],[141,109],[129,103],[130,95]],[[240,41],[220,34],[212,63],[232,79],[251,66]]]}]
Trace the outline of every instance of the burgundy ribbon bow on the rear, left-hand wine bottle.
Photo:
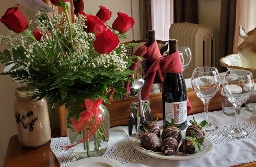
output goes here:
[{"label": "burgundy ribbon bow on the rear, left-hand wine bottle", "polygon": [[[155,62],[157,59],[161,58],[161,53],[159,51],[159,47],[157,41],[154,41],[150,46],[146,46],[146,44],[139,46],[139,48],[134,52],[135,56],[144,57],[147,61]],[[137,67],[138,67],[138,59],[133,59],[133,64],[130,66],[131,70],[134,70],[134,77],[136,75]],[[157,70],[157,74],[161,82],[164,81],[164,75],[162,75],[160,69]],[[130,93],[130,84],[131,82],[126,83],[126,92]],[[151,89],[150,89],[151,90]]]}]

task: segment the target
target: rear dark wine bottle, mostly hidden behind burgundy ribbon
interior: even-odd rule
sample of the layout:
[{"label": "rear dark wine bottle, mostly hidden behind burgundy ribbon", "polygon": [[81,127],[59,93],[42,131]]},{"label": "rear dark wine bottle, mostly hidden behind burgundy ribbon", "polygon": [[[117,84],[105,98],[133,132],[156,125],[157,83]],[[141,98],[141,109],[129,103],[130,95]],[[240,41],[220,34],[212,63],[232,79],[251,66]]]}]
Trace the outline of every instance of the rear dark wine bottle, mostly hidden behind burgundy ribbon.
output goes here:
[{"label": "rear dark wine bottle, mostly hidden behind burgundy ribbon", "polygon": [[[147,31],[147,35],[148,35],[148,42],[146,43],[146,46],[150,46],[152,45],[156,39],[155,39],[155,31],[154,30],[149,30]],[[149,67],[153,64],[154,62],[150,62],[148,60],[145,61],[144,63],[144,68],[143,68],[143,76],[145,77],[147,74],[147,70],[149,69]],[[153,86],[151,89],[151,93],[158,93],[161,91],[161,84],[160,84],[160,79],[158,77],[158,74],[156,74],[156,77],[154,79],[153,82]]]}]

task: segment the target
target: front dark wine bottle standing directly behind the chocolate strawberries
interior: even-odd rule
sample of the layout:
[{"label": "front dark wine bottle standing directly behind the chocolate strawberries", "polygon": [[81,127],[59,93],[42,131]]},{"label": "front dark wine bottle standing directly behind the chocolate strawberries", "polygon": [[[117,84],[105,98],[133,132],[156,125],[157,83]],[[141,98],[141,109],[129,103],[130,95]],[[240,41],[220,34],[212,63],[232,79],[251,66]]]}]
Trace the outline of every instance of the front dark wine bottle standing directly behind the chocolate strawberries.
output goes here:
[{"label": "front dark wine bottle standing directly behind the chocolate strawberries", "polygon": [[[169,54],[177,52],[178,40],[169,40]],[[171,56],[171,55],[167,55]],[[187,91],[182,73],[166,73],[162,84],[162,115],[165,121],[171,122],[181,130],[187,127]]]}]

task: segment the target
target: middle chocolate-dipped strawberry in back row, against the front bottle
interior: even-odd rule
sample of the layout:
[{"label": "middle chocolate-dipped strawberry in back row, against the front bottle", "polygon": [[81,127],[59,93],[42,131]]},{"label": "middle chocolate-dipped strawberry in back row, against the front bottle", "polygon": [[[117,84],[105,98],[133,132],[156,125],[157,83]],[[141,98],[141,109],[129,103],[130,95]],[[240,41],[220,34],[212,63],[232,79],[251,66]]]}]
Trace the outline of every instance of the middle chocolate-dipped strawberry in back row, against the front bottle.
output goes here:
[{"label": "middle chocolate-dipped strawberry in back row, against the front bottle", "polygon": [[181,140],[181,130],[178,127],[174,126],[173,118],[171,119],[171,123],[169,123],[168,121],[165,122],[164,130],[162,130],[162,141],[164,141],[168,137],[173,137],[174,139],[176,139],[179,145],[179,142]]}]

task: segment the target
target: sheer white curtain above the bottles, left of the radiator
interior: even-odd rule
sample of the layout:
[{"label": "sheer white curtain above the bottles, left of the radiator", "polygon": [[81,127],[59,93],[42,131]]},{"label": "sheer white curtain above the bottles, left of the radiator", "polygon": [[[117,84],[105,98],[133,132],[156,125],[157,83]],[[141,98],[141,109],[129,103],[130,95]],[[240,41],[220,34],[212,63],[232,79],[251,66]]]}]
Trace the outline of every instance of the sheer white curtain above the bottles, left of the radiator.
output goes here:
[{"label": "sheer white curtain above the bottles, left of the radiator", "polygon": [[156,39],[168,41],[173,23],[173,0],[151,0],[151,15]]}]

